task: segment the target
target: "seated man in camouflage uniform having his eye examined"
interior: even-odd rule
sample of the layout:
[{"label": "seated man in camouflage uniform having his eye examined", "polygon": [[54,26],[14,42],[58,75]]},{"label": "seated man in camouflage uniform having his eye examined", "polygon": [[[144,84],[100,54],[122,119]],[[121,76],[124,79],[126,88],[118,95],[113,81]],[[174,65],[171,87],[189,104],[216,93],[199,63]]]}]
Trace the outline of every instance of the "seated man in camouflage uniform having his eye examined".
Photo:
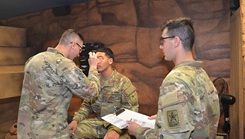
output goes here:
[{"label": "seated man in camouflage uniform having his eye examined", "polygon": [[[100,80],[100,95],[93,101],[84,100],[73,121],[69,124],[74,138],[130,139],[127,130],[101,119],[102,116],[115,113],[121,108],[138,111],[138,96],[131,81],[112,68],[114,55],[109,48],[100,48],[96,52],[99,59],[97,69]],[[95,117],[87,118],[90,113]]]}]

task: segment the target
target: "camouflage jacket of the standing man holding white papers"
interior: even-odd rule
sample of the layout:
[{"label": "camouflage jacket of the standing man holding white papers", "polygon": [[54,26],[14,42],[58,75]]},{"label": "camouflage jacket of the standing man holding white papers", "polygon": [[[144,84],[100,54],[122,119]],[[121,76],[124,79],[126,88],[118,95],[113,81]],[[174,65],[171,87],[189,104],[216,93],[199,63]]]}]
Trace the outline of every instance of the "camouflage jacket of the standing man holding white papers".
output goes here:
[{"label": "camouflage jacket of the standing man holding white papers", "polygon": [[216,88],[202,62],[177,65],[163,80],[155,129],[139,128],[139,139],[214,139],[220,116]]}]

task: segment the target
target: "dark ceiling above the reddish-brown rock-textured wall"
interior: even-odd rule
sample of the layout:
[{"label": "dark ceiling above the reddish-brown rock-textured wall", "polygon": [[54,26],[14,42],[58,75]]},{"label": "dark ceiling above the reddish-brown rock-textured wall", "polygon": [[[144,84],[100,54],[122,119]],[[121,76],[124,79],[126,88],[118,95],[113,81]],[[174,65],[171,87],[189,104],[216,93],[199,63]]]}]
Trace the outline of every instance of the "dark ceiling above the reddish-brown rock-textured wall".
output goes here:
[{"label": "dark ceiling above the reddish-brown rock-textured wall", "polygon": [[[38,12],[89,0],[0,0],[0,19]],[[230,1],[231,15],[240,7],[239,0]]]}]

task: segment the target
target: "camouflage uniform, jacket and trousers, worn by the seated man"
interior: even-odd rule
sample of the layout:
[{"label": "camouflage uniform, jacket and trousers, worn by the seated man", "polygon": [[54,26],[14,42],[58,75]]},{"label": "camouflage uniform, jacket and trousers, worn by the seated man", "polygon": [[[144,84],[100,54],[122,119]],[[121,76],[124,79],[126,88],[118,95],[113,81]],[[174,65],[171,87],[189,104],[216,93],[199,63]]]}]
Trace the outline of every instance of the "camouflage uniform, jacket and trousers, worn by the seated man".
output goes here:
[{"label": "camouflage uniform, jacket and trousers, worn by the seated man", "polygon": [[[100,96],[94,101],[84,100],[73,120],[78,122],[74,138],[103,138],[108,131],[115,130],[120,138],[130,138],[125,130],[107,123],[101,117],[120,108],[138,111],[138,96],[131,81],[114,70],[107,80],[101,79]],[[86,118],[90,113],[94,118]]]}]

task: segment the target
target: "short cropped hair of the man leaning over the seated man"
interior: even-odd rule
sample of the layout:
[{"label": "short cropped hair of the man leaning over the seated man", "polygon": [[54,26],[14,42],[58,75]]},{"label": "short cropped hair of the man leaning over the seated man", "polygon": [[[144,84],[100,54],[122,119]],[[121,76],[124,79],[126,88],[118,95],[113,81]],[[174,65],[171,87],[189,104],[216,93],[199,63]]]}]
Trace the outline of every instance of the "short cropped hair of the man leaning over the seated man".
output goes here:
[{"label": "short cropped hair of the man leaning over the seated man", "polygon": [[78,33],[75,29],[67,29],[60,38],[60,43],[63,45],[68,45],[73,38],[79,37],[84,42],[84,37],[82,34]]}]

